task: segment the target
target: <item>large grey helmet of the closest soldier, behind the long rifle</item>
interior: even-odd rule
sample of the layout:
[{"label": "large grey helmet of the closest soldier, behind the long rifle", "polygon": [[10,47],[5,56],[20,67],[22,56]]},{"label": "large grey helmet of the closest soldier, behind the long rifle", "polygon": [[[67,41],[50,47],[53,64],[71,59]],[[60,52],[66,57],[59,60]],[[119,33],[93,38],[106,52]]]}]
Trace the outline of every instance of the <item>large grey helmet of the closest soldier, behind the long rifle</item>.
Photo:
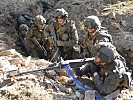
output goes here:
[{"label": "large grey helmet of the closest soldier, behind the long rifle", "polygon": [[100,42],[96,44],[91,53],[94,56],[98,56],[101,59],[101,62],[111,63],[115,60],[118,55],[116,48],[109,42]]}]

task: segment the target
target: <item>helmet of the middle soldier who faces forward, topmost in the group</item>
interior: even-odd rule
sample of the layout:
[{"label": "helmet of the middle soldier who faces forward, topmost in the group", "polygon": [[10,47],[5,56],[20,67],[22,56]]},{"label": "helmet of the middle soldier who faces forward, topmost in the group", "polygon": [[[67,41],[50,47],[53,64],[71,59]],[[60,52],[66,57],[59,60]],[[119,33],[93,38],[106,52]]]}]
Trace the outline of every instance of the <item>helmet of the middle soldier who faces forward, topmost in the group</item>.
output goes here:
[{"label": "helmet of the middle soldier who faces forward, topmost in the group", "polygon": [[57,18],[59,16],[66,18],[68,17],[68,13],[63,8],[56,9],[54,12],[54,17]]}]

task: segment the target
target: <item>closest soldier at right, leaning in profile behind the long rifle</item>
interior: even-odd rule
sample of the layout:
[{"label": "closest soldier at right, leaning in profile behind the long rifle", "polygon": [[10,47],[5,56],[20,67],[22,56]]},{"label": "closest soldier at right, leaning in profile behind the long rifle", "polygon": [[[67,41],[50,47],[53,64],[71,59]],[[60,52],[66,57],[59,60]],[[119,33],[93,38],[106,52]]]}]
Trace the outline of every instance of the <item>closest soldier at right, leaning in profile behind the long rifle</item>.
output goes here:
[{"label": "closest soldier at right, leaning in profile behind the long rifle", "polygon": [[[95,61],[88,64],[86,69],[91,73],[99,93],[109,94],[119,87],[128,88],[131,85],[131,72],[126,67],[125,59],[111,43],[100,42],[92,48],[91,53]],[[83,74],[87,74],[87,70]]]}]

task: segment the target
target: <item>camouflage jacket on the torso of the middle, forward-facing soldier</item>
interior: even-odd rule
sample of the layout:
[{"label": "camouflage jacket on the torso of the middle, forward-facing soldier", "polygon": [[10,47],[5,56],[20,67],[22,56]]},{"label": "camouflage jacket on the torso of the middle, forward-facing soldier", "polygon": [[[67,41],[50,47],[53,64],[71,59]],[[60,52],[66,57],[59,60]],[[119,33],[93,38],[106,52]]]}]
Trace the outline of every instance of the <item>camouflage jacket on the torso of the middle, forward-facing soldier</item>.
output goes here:
[{"label": "camouflage jacket on the torso of the middle, forward-facing soldier", "polygon": [[[62,41],[64,44],[63,47],[72,47],[78,42],[79,37],[74,21],[67,20],[65,25],[63,26],[54,22],[53,26],[56,34],[56,40]],[[54,36],[50,25],[47,28],[46,33],[48,34],[48,36]]]}]

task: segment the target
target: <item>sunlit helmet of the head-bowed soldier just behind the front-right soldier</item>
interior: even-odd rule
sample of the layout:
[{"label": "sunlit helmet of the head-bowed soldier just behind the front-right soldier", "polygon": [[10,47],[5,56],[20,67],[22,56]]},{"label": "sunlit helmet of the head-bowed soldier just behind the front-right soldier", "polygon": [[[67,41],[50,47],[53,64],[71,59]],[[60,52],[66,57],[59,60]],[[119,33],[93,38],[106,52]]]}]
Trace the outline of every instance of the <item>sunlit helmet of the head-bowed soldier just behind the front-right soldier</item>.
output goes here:
[{"label": "sunlit helmet of the head-bowed soldier just behind the front-right soldier", "polygon": [[93,28],[95,30],[101,28],[101,22],[97,16],[88,16],[84,19],[83,24],[87,28]]}]

